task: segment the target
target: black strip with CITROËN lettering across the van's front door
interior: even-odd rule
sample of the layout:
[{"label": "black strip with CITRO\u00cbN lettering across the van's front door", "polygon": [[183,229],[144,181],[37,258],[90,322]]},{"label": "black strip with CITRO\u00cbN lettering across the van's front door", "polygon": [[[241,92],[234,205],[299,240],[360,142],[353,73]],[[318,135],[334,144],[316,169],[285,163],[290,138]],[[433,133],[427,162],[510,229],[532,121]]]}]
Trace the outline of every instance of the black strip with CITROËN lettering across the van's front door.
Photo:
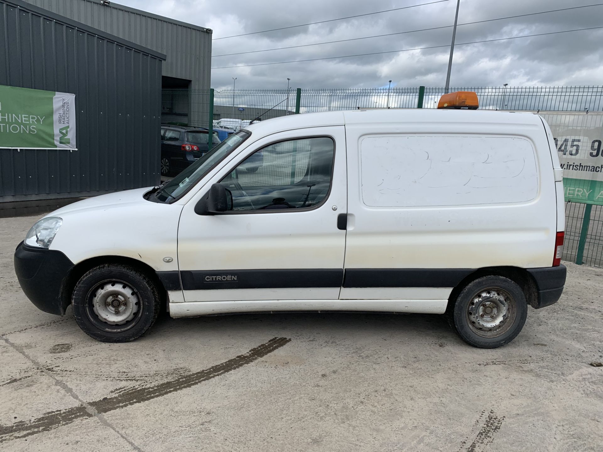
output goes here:
[{"label": "black strip with CITRO\u00cbN lettering across the van's front door", "polygon": [[184,290],[341,287],[343,269],[195,270],[180,277]]}]

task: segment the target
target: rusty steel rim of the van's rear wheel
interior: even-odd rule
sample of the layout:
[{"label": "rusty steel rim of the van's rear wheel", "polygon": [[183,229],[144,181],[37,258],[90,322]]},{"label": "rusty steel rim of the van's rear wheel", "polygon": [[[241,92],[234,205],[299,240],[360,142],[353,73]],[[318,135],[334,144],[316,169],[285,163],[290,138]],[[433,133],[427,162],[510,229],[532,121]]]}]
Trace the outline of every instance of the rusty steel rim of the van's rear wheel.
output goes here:
[{"label": "rusty steel rim of the van's rear wheel", "polygon": [[471,297],[466,316],[473,333],[481,337],[498,337],[513,326],[517,302],[507,290],[488,287]]}]

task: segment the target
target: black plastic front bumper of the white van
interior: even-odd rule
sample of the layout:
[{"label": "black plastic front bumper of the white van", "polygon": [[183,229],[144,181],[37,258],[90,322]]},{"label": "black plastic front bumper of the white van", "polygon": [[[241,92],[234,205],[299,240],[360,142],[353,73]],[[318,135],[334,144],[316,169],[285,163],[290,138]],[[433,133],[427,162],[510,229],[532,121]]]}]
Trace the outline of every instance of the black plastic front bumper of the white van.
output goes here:
[{"label": "black plastic front bumper of the white van", "polygon": [[56,250],[34,248],[21,242],[14,250],[14,272],[31,303],[44,312],[65,314],[69,306],[66,283],[74,263]]}]

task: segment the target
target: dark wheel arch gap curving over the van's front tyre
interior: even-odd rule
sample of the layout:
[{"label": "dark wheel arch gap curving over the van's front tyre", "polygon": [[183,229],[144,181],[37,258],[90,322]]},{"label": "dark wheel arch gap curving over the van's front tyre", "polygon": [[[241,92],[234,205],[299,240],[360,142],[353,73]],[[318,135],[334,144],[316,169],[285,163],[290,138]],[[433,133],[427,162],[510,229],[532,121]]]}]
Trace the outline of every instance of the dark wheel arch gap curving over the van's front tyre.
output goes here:
[{"label": "dark wheel arch gap curving over the van's front tyre", "polygon": [[151,281],[153,281],[154,286],[161,297],[161,305],[163,307],[168,304],[168,292],[163,286],[163,283],[157,276],[157,273],[151,268],[150,265],[141,262],[140,260],[132,259],[131,257],[124,256],[97,256],[91,257],[90,259],[83,260],[82,262],[77,263],[74,268],[69,272],[68,277],[65,279],[65,283],[63,283],[62,290],[62,304],[63,304],[63,312],[67,309],[67,307],[71,304],[71,295],[74,291],[75,284],[77,281],[86,274],[90,269],[103,264],[116,264],[116,265],[128,265],[131,266],[145,275],[147,275]]}]

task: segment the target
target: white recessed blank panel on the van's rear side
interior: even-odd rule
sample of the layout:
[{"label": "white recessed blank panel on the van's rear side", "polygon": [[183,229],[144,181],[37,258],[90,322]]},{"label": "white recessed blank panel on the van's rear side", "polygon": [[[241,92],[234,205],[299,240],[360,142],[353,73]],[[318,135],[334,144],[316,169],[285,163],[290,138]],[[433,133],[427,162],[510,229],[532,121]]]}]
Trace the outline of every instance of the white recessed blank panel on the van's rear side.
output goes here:
[{"label": "white recessed blank panel on the van's rear side", "polygon": [[526,202],[538,193],[529,140],[499,136],[369,136],[362,201],[371,207]]}]

